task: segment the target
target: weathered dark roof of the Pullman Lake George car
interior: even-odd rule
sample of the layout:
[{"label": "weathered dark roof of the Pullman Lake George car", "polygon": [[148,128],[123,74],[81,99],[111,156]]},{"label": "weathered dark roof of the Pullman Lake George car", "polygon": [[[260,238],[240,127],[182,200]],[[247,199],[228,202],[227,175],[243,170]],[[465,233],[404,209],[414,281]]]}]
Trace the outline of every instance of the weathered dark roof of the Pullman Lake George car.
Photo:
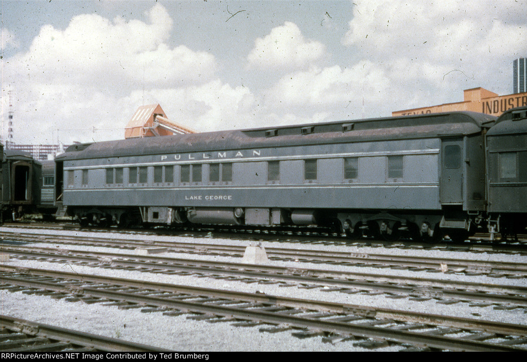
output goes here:
[{"label": "weathered dark roof of the Pullman Lake George car", "polygon": [[482,113],[450,112],[158,136],[76,144],[55,160],[468,135],[481,132],[495,120]]}]

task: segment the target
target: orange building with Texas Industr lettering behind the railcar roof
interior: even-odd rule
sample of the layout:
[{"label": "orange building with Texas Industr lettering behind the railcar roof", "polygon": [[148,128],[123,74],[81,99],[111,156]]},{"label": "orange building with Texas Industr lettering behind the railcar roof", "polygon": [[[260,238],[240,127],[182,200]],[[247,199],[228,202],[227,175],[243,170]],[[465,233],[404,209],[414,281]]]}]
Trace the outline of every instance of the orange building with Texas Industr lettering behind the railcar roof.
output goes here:
[{"label": "orange building with Texas Industr lettering behind the railcar roof", "polygon": [[452,111],[472,111],[499,116],[511,108],[527,106],[527,93],[499,96],[481,87],[463,91],[465,100],[457,103],[445,103],[430,107],[415,108],[392,112],[392,116],[440,113]]}]

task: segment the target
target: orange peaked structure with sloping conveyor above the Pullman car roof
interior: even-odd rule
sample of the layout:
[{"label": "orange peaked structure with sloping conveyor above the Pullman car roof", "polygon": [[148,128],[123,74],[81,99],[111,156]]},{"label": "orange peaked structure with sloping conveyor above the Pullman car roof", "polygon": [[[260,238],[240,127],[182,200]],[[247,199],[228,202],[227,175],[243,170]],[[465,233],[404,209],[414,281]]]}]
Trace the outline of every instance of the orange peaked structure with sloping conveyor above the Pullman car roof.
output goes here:
[{"label": "orange peaked structure with sloping conveyor above the Pullman car roof", "polygon": [[124,129],[124,138],[166,136],[196,131],[166,118],[159,104],[140,106]]}]

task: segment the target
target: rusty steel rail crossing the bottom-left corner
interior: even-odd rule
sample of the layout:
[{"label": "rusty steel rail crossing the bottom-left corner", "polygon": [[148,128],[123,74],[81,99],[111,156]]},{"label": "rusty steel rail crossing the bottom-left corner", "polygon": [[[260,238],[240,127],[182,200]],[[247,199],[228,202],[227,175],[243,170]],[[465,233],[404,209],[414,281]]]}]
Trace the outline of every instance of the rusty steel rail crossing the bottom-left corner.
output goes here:
[{"label": "rusty steel rail crossing the bottom-left corner", "polygon": [[[23,334],[66,341],[67,343],[94,348],[100,351],[159,352],[162,348],[133,343],[125,340],[103,337],[91,333],[55,327],[25,319],[0,315],[0,327]],[[3,349],[3,351],[7,351]]]}]

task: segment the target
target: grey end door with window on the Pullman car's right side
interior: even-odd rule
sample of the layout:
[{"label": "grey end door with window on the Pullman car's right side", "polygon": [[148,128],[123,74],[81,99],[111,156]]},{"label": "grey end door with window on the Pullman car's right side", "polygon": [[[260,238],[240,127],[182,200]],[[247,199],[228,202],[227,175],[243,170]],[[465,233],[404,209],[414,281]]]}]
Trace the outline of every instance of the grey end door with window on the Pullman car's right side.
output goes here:
[{"label": "grey end door with window on the Pullman car's right side", "polygon": [[440,201],[463,203],[463,139],[443,139]]}]

